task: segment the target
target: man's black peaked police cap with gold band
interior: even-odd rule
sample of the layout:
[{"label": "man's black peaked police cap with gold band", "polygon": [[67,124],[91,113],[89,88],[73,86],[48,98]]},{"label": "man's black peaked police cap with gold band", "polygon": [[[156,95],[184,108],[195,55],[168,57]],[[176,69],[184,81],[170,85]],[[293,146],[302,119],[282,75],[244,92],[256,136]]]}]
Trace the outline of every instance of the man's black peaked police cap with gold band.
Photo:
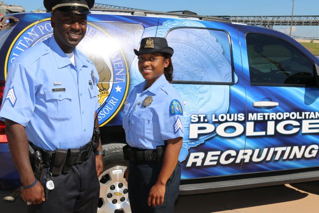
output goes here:
[{"label": "man's black peaked police cap with gold band", "polygon": [[72,14],[90,14],[94,0],[44,0],[47,11],[59,11]]}]

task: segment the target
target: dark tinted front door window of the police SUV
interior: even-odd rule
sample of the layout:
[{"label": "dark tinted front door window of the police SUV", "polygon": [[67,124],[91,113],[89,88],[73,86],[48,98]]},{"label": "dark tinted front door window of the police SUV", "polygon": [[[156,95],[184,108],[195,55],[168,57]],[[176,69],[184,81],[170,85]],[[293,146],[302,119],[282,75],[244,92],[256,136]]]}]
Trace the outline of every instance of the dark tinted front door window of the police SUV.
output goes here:
[{"label": "dark tinted front door window of the police SUV", "polygon": [[246,42],[251,85],[316,86],[313,63],[290,43],[253,33]]}]

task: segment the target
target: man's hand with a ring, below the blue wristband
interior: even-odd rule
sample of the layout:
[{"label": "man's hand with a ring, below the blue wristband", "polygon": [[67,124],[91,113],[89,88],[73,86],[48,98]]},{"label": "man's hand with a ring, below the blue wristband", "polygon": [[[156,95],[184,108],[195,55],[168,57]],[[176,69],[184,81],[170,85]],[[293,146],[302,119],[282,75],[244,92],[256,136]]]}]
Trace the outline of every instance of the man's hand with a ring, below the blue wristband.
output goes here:
[{"label": "man's hand with a ring, below the blue wristband", "polygon": [[44,189],[38,181],[34,186],[28,189],[22,188],[22,197],[24,202],[32,202],[33,204],[40,204],[45,201]]}]

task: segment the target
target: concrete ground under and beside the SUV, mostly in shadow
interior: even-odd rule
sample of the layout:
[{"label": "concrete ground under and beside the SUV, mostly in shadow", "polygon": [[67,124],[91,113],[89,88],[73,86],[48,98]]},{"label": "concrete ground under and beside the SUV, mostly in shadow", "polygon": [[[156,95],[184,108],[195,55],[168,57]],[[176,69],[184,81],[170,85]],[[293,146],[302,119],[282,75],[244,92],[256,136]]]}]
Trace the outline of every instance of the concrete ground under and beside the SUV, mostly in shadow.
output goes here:
[{"label": "concrete ground under and beside the SUV, mostly in shadow", "polygon": [[[4,202],[0,191],[0,212],[24,212],[24,203],[17,198]],[[250,212],[319,212],[319,181],[243,189],[229,192],[179,196],[175,213],[250,213]]]}]

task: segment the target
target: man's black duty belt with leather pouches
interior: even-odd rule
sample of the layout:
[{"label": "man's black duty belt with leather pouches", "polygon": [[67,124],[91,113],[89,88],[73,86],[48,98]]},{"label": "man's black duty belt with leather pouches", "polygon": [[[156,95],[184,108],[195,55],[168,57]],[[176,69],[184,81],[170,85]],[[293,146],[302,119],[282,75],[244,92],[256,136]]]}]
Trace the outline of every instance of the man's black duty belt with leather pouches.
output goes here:
[{"label": "man's black duty belt with leather pouches", "polygon": [[42,149],[33,145],[29,141],[34,151],[40,151],[42,154],[43,167],[50,167],[53,175],[68,173],[74,164],[82,164],[91,156],[92,141],[82,148],[59,149],[54,151]]}]

